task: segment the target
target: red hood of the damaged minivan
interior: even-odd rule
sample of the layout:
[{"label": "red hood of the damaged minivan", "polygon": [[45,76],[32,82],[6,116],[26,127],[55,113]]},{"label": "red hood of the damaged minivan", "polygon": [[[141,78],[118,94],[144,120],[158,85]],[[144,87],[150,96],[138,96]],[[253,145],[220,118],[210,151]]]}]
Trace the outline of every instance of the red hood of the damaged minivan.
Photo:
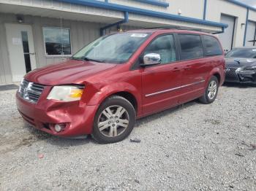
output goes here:
[{"label": "red hood of the damaged minivan", "polygon": [[42,85],[67,85],[83,82],[86,77],[111,69],[116,64],[68,60],[26,74],[25,79]]}]

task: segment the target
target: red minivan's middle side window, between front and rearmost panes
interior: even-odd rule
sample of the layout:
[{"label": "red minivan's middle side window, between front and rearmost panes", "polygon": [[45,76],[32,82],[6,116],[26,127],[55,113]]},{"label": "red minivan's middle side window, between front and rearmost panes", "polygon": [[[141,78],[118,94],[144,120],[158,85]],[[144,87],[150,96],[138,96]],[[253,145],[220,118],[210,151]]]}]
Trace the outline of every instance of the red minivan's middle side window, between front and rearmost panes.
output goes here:
[{"label": "red minivan's middle side window, between front and rearmost panes", "polygon": [[181,60],[203,58],[203,44],[199,35],[179,34],[181,42]]}]

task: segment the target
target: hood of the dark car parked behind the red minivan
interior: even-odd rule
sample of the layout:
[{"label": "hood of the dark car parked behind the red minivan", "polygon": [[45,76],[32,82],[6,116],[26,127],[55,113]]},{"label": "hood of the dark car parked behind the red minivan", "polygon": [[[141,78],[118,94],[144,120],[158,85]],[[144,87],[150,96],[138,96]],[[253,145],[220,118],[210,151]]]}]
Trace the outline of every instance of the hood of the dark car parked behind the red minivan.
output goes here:
[{"label": "hood of the dark car parked behind the red minivan", "polygon": [[[244,68],[256,66],[255,58],[225,58],[226,68]],[[240,64],[237,62],[239,61]]]}]

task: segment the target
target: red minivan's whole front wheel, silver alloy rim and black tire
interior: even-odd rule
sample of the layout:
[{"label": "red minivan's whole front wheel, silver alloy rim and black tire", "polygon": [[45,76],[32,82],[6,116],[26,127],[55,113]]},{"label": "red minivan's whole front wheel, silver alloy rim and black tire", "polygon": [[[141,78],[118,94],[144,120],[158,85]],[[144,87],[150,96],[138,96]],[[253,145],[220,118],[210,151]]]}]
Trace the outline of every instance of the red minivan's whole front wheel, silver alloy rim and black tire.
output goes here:
[{"label": "red minivan's whole front wheel, silver alloy rim and black tire", "polygon": [[113,95],[99,106],[92,137],[102,144],[122,141],[132,132],[135,120],[132,104],[121,96]]}]

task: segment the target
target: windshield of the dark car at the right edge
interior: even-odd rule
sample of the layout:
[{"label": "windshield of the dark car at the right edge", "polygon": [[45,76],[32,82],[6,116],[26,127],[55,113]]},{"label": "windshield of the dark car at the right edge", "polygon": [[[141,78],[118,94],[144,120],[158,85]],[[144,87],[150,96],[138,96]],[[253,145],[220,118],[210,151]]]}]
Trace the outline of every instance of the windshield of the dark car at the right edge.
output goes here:
[{"label": "windshield of the dark car at the right edge", "polygon": [[227,53],[227,58],[256,58],[256,47],[253,48],[235,48]]}]

